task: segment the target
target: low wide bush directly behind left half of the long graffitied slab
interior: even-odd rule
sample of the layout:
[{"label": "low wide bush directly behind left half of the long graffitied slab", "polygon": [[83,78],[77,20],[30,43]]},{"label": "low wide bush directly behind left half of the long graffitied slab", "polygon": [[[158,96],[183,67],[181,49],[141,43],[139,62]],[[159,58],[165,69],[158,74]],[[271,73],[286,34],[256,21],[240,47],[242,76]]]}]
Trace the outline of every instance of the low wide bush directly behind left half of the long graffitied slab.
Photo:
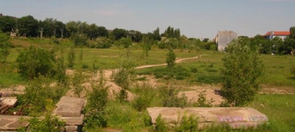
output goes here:
[{"label": "low wide bush directly behind left half of the long graffitied slab", "polygon": [[159,94],[162,98],[162,106],[164,107],[185,107],[187,106],[187,97],[182,94],[178,97],[178,90],[175,87],[160,87]]}]

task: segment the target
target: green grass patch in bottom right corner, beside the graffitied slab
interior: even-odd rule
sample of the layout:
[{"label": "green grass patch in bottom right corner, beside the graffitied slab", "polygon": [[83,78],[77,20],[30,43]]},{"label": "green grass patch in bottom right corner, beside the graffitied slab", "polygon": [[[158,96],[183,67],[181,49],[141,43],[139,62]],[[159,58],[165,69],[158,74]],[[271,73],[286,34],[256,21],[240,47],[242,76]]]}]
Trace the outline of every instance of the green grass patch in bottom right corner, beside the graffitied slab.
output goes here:
[{"label": "green grass patch in bottom right corner, beside the graffitied slab", "polygon": [[295,132],[294,95],[258,95],[249,106],[266,114],[270,124],[269,132]]}]

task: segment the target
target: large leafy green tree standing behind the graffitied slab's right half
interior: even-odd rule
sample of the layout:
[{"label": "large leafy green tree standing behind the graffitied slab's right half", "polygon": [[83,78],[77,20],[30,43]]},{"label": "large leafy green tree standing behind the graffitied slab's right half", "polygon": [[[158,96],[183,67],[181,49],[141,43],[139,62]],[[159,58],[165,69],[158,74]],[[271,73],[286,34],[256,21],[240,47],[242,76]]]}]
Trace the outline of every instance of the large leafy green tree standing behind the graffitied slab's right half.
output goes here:
[{"label": "large leafy green tree standing behind the graffitied slab's right half", "polygon": [[251,47],[249,41],[234,40],[222,61],[222,96],[234,106],[243,106],[252,101],[260,89],[259,80],[264,73],[258,48]]}]

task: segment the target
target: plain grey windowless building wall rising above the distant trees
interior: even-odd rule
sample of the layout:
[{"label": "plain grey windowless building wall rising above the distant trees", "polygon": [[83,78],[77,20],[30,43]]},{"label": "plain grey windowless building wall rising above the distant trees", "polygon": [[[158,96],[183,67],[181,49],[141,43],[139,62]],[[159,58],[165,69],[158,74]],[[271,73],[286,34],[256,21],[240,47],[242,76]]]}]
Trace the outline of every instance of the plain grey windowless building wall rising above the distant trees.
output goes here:
[{"label": "plain grey windowless building wall rising above the distant trees", "polygon": [[237,39],[237,33],[233,31],[218,31],[215,43],[218,51],[224,51],[229,43]]}]

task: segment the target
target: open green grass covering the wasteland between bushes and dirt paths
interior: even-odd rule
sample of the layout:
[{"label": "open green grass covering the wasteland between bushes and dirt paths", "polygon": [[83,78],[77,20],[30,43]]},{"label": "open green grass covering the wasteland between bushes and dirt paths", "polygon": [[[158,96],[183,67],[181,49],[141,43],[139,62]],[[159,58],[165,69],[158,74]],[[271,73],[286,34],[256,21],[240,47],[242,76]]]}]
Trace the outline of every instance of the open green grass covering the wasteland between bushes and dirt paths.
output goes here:
[{"label": "open green grass covering the wasteland between bushes and dirt paths", "polygon": [[[15,62],[18,54],[28,48],[30,45],[40,48],[58,47],[63,50],[65,63],[67,64],[67,53],[72,43],[69,40],[60,40],[56,45],[51,39],[27,39],[18,38],[11,40],[15,48],[7,58],[7,63],[0,65],[0,88],[9,87],[16,84],[27,84],[28,80],[19,76],[17,63]],[[110,49],[89,49],[75,48],[75,64],[72,69],[83,69],[90,71],[95,64],[101,69],[118,68],[120,57],[125,55],[126,50],[118,47]],[[79,55],[83,51],[83,59]],[[137,66],[163,64],[166,60],[168,50],[152,48],[149,56],[142,58],[140,46],[131,48],[134,62]],[[161,82],[176,82],[177,85],[191,86],[202,84],[220,84],[219,69],[222,66],[223,53],[212,51],[194,51],[194,50],[175,50],[177,58],[195,57],[203,55],[197,59],[184,60],[177,63],[174,68],[166,66],[150,67],[137,69],[136,74],[153,75]],[[287,89],[295,92],[295,77],[291,74],[291,67],[295,66],[295,57],[291,55],[261,55],[265,65],[265,75],[262,77],[264,88]],[[130,88],[130,91],[137,95],[150,95],[156,97],[157,90],[140,87]],[[160,98],[160,97],[159,97]],[[151,98],[148,106],[161,106],[159,98]],[[253,132],[295,132],[295,96],[294,94],[259,94],[254,102],[247,106],[254,107],[265,113],[269,119],[269,125],[262,130]],[[109,102],[107,106],[108,128],[114,130],[123,130],[123,132],[146,132],[150,129],[148,124],[148,113],[146,110],[138,112],[131,103],[119,103],[117,101]],[[104,129],[88,130],[89,132],[105,131]],[[207,132],[215,132],[210,130]],[[242,130],[230,130],[231,132],[248,132]],[[220,130],[218,132],[227,132]]]}]

